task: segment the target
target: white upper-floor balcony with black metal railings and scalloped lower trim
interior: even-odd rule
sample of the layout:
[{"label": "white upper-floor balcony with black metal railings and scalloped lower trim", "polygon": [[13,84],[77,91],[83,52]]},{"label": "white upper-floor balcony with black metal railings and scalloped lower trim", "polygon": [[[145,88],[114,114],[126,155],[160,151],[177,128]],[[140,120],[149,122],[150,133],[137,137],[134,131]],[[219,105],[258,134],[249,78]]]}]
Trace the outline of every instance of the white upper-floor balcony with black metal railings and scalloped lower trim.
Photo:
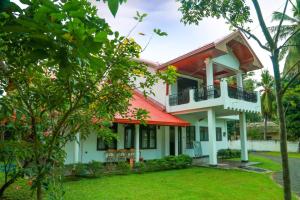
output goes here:
[{"label": "white upper-floor balcony with black metal railings and scalloped lower trim", "polygon": [[217,106],[228,111],[261,112],[258,92],[230,87],[225,79],[220,85],[186,89],[178,94],[167,95],[166,110],[173,114],[198,112]]}]

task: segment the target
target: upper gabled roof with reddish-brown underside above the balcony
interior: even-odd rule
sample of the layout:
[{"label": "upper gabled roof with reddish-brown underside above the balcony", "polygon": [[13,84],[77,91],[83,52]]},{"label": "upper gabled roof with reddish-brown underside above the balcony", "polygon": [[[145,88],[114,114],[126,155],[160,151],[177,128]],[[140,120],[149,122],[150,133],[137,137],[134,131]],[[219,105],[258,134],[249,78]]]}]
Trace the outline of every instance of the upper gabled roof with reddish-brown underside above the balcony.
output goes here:
[{"label": "upper gabled roof with reddish-brown underside above the balcony", "polygon": [[[234,54],[240,63],[240,69],[244,72],[261,69],[263,67],[246,38],[239,31],[235,31],[220,40],[204,45],[194,51],[166,62],[159,66],[158,69],[163,70],[167,66],[173,65],[177,68],[179,73],[203,78],[206,74],[205,59],[216,58],[227,53]],[[214,76],[217,78],[232,75],[226,68],[220,66],[214,67]]]}]

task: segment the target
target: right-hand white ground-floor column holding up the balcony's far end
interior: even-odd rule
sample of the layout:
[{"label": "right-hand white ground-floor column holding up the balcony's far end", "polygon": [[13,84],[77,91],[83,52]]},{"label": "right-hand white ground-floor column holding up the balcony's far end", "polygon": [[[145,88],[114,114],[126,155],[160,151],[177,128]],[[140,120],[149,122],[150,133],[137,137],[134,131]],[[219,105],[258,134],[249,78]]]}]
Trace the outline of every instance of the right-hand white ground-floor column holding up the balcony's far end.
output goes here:
[{"label": "right-hand white ground-floor column holding up the balcony's far end", "polygon": [[241,140],[241,160],[248,162],[248,147],[247,147],[247,127],[246,114],[240,113],[240,140]]}]

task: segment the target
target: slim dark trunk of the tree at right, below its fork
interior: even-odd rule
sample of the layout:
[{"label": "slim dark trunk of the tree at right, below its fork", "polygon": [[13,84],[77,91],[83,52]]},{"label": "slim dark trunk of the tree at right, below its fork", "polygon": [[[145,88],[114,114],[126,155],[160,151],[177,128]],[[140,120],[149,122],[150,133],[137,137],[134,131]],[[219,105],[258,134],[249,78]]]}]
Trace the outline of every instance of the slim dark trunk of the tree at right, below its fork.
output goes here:
[{"label": "slim dark trunk of the tree at right, below its fork", "polygon": [[273,70],[274,70],[277,114],[279,118],[280,150],[281,150],[281,160],[282,160],[284,199],[291,200],[292,193],[291,193],[291,180],[290,180],[288,152],[287,152],[287,133],[286,133],[285,116],[284,116],[284,109],[282,103],[282,87],[281,87],[280,71],[279,71],[279,63],[278,63],[278,52],[274,52],[272,54],[271,59],[272,59]]}]

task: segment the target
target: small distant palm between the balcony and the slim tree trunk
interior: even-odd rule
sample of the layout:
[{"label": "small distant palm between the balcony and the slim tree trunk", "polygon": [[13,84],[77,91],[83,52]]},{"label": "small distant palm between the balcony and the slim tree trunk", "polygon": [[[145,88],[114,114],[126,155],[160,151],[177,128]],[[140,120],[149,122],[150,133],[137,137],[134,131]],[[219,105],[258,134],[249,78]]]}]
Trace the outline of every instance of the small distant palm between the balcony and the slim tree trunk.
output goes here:
[{"label": "small distant palm between the balcony and the slim tree trunk", "polygon": [[257,85],[259,87],[262,87],[261,111],[265,122],[264,140],[266,139],[268,132],[268,120],[271,119],[276,112],[276,109],[274,109],[275,95],[273,84],[274,78],[270,75],[269,71],[262,71],[261,82],[259,82]]}]

